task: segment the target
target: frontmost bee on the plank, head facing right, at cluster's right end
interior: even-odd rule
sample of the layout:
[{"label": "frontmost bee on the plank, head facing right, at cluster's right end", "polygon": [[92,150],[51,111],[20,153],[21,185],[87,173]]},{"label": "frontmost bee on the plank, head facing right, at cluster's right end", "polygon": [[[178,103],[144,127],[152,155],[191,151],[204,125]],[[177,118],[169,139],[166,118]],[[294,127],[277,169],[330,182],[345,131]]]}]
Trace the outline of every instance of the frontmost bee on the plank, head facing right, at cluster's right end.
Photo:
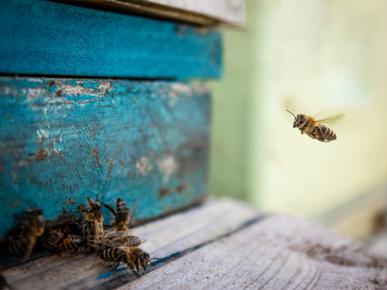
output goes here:
[{"label": "frontmost bee on the plank, head facing right, at cluster's right end", "polygon": [[[136,243],[143,241],[139,241],[138,239],[134,239]],[[140,249],[138,244],[128,244],[128,246],[124,246],[116,241],[108,241],[105,244],[108,248],[99,253],[99,258],[103,259],[106,262],[114,262],[111,266],[111,270],[113,271],[118,267],[120,262],[125,263],[132,270],[134,275],[137,277],[140,276],[139,271],[140,267],[147,270],[149,263],[153,266],[154,264],[151,262],[153,259],[158,258],[150,258],[149,254],[142,249]]]}]

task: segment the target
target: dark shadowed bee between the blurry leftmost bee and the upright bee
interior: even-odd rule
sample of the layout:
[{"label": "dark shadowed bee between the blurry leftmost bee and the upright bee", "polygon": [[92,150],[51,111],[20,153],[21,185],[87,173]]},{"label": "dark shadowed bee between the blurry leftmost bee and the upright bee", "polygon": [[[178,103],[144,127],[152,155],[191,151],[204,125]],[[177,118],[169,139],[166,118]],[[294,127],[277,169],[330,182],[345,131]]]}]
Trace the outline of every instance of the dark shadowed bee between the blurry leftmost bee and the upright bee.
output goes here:
[{"label": "dark shadowed bee between the blurry leftmost bee and the upright bee", "polygon": [[58,228],[48,228],[41,242],[46,247],[55,247],[63,252],[77,254],[84,244],[82,237],[72,234],[67,223]]}]

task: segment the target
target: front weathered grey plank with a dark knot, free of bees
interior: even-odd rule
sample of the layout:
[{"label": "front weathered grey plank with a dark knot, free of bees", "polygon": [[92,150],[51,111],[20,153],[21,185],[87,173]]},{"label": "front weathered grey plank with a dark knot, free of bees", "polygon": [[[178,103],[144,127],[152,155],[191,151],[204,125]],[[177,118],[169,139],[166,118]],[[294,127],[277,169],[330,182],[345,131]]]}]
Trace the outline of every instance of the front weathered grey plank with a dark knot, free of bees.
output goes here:
[{"label": "front weathered grey plank with a dark knot, free of bees", "polygon": [[387,289],[387,259],[313,222],[275,215],[208,244],[127,289]]}]

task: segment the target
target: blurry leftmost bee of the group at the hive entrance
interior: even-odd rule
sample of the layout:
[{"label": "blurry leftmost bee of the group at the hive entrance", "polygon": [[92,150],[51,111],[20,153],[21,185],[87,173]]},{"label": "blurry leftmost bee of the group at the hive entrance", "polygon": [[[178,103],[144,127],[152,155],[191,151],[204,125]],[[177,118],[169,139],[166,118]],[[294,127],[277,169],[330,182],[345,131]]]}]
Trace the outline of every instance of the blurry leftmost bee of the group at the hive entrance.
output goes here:
[{"label": "blurry leftmost bee of the group at the hive entrance", "polygon": [[36,241],[45,231],[43,213],[41,208],[31,207],[23,212],[23,217],[15,217],[20,220],[20,232],[8,237],[9,250],[11,253],[24,251],[24,259],[28,259]]}]

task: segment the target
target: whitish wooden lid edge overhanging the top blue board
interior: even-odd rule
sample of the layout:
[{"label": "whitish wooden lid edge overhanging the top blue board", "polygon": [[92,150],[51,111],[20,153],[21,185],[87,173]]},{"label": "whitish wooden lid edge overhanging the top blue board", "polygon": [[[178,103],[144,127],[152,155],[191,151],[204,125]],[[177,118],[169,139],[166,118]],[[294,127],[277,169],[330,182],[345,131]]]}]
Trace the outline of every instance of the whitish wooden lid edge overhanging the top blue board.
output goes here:
[{"label": "whitish wooden lid edge overhanging the top blue board", "polygon": [[245,22],[243,0],[58,0],[57,2],[205,26],[219,24],[241,26]]}]

